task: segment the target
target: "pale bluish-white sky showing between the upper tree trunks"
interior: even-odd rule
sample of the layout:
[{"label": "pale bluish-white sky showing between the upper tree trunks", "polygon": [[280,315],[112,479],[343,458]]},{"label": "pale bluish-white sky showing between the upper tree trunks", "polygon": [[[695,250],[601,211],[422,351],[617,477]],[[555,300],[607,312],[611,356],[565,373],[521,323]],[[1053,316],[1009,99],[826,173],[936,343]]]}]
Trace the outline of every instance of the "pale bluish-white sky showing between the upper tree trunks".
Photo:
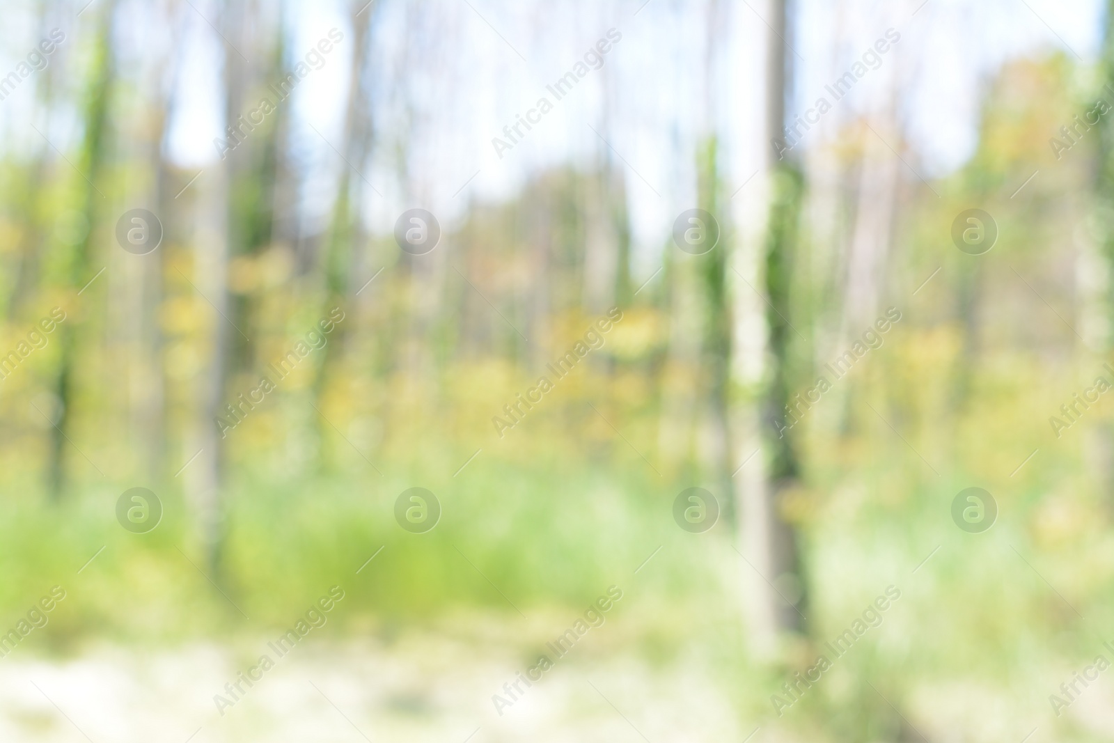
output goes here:
[{"label": "pale bluish-white sky showing between the upper tree trunks", "polygon": [[[881,66],[804,138],[803,147],[836,136],[841,123],[873,105],[889,76],[899,75],[900,118],[918,165],[926,175],[946,175],[971,155],[980,91],[1004,61],[1063,49],[1092,62],[1101,41],[1100,0],[928,0],[918,10],[920,1],[849,0],[838,17],[830,0],[800,0],[790,39],[799,66],[800,113],[887,29],[901,37],[882,56]],[[694,199],[691,153],[707,126],[704,3],[469,0],[469,6],[463,0],[438,0],[423,6],[436,9],[432,12],[418,12],[392,0],[377,2],[382,6],[375,52],[380,105],[375,125],[381,139],[375,162],[361,168],[383,194],[372,195],[367,204],[375,229],[389,232],[394,216],[410,206],[429,208],[451,228],[469,199],[508,198],[534,173],[565,162],[587,164],[608,154],[625,173],[636,261],[654,265],[673,216]],[[36,3],[6,4],[10,7],[0,76],[13,69],[41,36]],[[51,63],[63,66],[69,92],[81,80],[74,72],[84,70],[94,30],[96,4],[78,18],[80,4],[51,23],[68,36]],[[720,4],[714,27],[717,53],[711,62],[717,95],[711,116],[724,146],[727,180],[741,185],[754,169],[749,159],[760,131],[762,74],[755,50],[766,33],[760,16],[765,17],[769,8],[765,0]],[[215,0],[193,0],[193,6],[196,10],[183,3],[183,29],[172,39],[149,17],[148,2],[125,2],[120,18],[128,20],[121,21],[118,38],[120,71],[128,78],[149,76],[150,60],[174,45],[188,60],[179,69],[175,89],[168,155],[184,168],[202,169],[216,162],[213,139],[223,130],[219,77],[225,43],[202,18],[216,18]],[[311,72],[283,104],[293,106],[292,144],[307,178],[304,208],[321,216],[331,202],[338,168],[348,167],[322,136],[333,145],[340,143],[353,35],[339,0],[286,2],[286,7],[292,55],[303,56],[331,28],[345,37],[324,67]],[[417,28],[409,35],[403,32],[408,22]],[[546,86],[573,70],[609,29],[622,39],[604,56],[603,67],[592,69],[556,100]],[[836,29],[841,29],[843,39],[839,47]],[[78,124],[71,113],[56,115],[49,123],[43,119],[33,105],[38,79],[41,74],[32,75],[0,101],[4,141],[14,151],[43,146],[28,126],[35,121],[65,151],[79,136]],[[500,158],[491,139],[504,137],[504,126],[514,125],[543,96],[554,104],[553,110]],[[416,189],[410,196],[400,190],[400,164],[393,158],[401,141],[408,145]]]}]

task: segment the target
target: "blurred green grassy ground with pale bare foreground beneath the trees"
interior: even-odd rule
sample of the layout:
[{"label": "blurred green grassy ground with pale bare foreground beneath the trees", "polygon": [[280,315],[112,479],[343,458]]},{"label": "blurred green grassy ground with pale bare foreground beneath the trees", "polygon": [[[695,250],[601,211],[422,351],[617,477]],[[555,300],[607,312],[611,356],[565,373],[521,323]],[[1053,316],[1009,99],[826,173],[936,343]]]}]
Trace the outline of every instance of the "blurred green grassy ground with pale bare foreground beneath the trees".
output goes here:
[{"label": "blurred green grassy ground with pale bare foreground beneath the trees", "polygon": [[[136,705],[150,725],[173,722],[186,735],[206,725],[213,741],[277,740],[295,720],[321,721],[307,740],[354,734],[309,681],[369,735],[413,740],[463,740],[476,726],[480,741],[636,739],[616,708],[649,740],[741,740],[755,726],[770,740],[898,740],[915,737],[910,729],[930,740],[1022,740],[1034,727],[1106,740],[1106,678],[1061,716],[1048,701],[1096,655],[1110,657],[1103,643],[1114,641],[1100,457],[1107,402],[1059,439],[1047,423],[1102,360],[997,356],[956,398],[955,331],[912,325],[802,429],[808,478],[784,506],[804,526],[812,639],[773,661],[746,649],[741,586],[753,574],[730,525],[678,529],[671,507],[693,483],[685,471],[663,466],[658,478],[606,426],[585,422],[595,413],[574,390],[528,421],[529,436],[483,446],[456,477],[490,442],[434,439],[420,456],[387,446],[382,477],[343,448],[313,471],[284,469],[282,450],[240,467],[228,491],[227,596],[198,569],[173,488],[148,535],[119,528],[109,487],[60,508],[4,500],[4,626],[53,585],[67,597],[0,659],[0,683],[12,690],[3,724],[11,740],[61,740],[62,723],[23,680],[56,684],[69,712],[88,704],[89,678],[105,673],[118,680],[121,715]],[[653,416],[615,420],[634,448],[654,451]],[[569,422],[585,436],[559,436]],[[424,535],[393,520],[394,498],[413,485],[443,507]],[[970,486],[998,504],[985,534],[951,521],[952,498]],[[215,715],[213,694],[333,585],[345,598],[328,624],[244,705]],[[606,624],[500,717],[491,695],[610,585],[624,598]],[[778,716],[771,695],[890,585],[901,598],[881,624]],[[135,681],[148,677],[162,681]],[[101,724],[97,714],[88,707],[90,725]],[[121,740],[154,729],[119,724]]]}]

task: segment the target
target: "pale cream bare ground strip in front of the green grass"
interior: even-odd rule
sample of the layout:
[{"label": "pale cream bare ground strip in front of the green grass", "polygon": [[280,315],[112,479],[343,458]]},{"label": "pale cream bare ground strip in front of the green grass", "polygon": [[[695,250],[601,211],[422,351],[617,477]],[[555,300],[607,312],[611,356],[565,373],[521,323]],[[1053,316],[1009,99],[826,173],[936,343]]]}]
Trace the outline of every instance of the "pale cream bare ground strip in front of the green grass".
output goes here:
[{"label": "pale cream bare ground strip in front of the green grass", "polygon": [[[0,661],[4,743],[332,743],[345,741],[742,741],[753,731],[706,664],[648,663],[588,633],[510,706],[496,710],[536,647],[497,623],[312,636],[221,711],[214,697],[268,636],[139,648],[97,644],[76,655]],[[585,642],[587,641],[587,642]],[[593,643],[595,641],[595,643]],[[593,644],[595,646],[593,646]],[[238,693],[237,693],[238,694]],[[506,696],[506,695],[505,695]],[[223,713],[223,714],[222,714]]]}]

